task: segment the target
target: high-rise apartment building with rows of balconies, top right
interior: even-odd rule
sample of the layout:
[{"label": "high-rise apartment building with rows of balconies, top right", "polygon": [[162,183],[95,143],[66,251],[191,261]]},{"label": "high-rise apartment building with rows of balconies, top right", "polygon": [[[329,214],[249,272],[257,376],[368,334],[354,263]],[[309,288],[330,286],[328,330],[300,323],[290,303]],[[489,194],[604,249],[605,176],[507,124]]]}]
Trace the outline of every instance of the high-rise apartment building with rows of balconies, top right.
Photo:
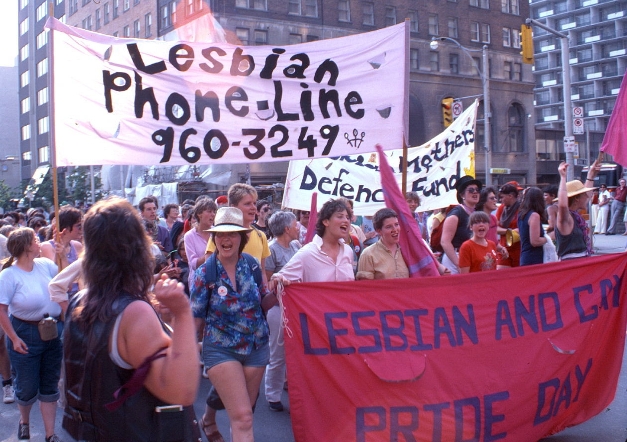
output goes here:
[{"label": "high-rise apartment building with rows of balconies, top right", "polygon": [[[579,157],[599,152],[621,79],[627,68],[627,2],[624,0],[533,0],[532,18],[568,35],[572,106],[583,108],[585,135]],[[534,27],[535,126],[539,175],[555,173],[564,159],[561,41]],[[577,155],[577,154],[576,154]],[[540,165],[546,165],[541,167]]]}]

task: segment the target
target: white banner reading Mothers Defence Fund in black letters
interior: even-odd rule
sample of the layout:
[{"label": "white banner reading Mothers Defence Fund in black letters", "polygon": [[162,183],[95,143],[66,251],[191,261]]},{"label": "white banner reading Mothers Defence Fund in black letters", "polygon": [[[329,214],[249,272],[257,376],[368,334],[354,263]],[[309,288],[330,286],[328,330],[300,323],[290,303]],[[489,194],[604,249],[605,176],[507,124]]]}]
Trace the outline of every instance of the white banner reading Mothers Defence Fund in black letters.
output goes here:
[{"label": "white banner reading Mothers Defence Fund in black letters", "polygon": [[[457,180],[475,176],[477,106],[475,101],[440,135],[408,149],[407,188],[418,193],[419,211],[457,204]],[[403,150],[389,150],[386,155],[401,187]],[[329,198],[337,197],[353,200],[356,215],[374,215],[386,207],[376,153],[290,162],[283,206],[310,210],[314,192],[318,192],[319,209]]]}]

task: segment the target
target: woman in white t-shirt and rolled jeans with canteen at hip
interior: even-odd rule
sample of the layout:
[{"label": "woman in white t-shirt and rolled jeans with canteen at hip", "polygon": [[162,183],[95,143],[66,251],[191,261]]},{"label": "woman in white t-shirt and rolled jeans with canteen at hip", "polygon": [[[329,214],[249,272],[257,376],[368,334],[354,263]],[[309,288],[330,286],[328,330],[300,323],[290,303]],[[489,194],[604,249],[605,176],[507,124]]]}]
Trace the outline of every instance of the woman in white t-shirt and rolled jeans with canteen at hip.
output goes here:
[{"label": "woman in white t-shirt and rolled jeans with canteen at hip", "polygon": [[[61,374],[61,307],[50,301],[48,282],[57,265],[39,258],[39,240],[33,229],[21,227],[9,235],[11,259],[0,272],[0,326],[9,338],[8,350],[15,371],[15,394],[19,407],[18,439],[29,438],[29,416],[40,400],[46,442],[60,441],[55,435],[56,401]],[[10,314],[10,316],[9,316]],[[38,322],[51,316],[57,336],[43,341]]]}]

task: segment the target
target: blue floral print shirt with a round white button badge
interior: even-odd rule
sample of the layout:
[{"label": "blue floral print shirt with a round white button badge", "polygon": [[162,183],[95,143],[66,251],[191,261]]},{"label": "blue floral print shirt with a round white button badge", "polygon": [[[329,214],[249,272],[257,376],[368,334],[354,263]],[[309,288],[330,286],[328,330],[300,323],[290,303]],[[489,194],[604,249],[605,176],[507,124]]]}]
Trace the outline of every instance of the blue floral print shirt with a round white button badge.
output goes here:
[{"label": "blue floral print shirt with a round white button badge", "polygon": [[236,285],[216,259],[218,280],[209,290],[205,281],[207,264],[196,269],[189,287],[194,317],[205,319],[205,342],[238,354],[250,354],[268,342],[268,322],[261,310],[266,287],[257,286],[253,272],[240,256],[235,267]]}]

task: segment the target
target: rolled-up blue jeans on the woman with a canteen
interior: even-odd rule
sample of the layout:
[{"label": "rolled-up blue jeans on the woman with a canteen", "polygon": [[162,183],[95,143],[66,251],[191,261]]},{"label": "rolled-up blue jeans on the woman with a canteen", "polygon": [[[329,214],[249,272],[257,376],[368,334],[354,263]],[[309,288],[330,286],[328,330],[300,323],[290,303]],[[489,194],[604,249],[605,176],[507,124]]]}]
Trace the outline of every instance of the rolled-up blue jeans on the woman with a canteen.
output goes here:
[{"label": "rolled-up blue jeans on the woman with a canteen", "polygon": [[30,405],[37,399],[41,402],[56,402],[59,399],[58,383],[63,359],[63,322],[56,323],[59,336],[51,341],[41,341],[38,327],[34,324],[28,324],[14,316],[11,316],[11,324],[28,347],[28,353],[18,353],[7,337],[9,359],[15,372],[14,388],[18,404]]}]

